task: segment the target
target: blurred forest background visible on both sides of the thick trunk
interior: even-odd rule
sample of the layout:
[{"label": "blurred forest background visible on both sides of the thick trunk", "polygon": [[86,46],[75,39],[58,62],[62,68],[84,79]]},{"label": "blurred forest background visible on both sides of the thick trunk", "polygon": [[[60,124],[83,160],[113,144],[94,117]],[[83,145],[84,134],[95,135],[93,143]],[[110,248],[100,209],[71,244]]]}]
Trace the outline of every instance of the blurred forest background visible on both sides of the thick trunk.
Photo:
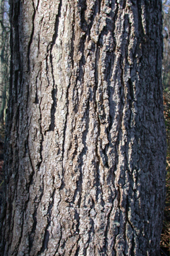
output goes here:
[{"label": "blurred forest background visible on both sides of the thick trunk", "polygon": [[[9,0],[0,0],[0,209],[3,183],[4,136],[9,91]],[[163,104],[167,136],[166,207],[161,234],[161,255],[170,256],[170,0],[163,1]]]}]

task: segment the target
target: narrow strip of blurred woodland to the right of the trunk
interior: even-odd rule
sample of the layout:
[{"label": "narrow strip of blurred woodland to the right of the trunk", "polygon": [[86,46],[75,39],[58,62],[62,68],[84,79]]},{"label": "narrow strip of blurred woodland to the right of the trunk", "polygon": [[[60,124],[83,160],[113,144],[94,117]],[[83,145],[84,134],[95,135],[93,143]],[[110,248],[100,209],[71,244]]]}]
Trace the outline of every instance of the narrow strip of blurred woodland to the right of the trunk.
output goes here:
[{"label": "narrow strip of blurred woodland to the right of the trunk", "polygon": [[166,122],[167,157],[166,157],[166,207],[161,247],[167,255],[170,253],[170,1],[163,1],[163,103]]}]

